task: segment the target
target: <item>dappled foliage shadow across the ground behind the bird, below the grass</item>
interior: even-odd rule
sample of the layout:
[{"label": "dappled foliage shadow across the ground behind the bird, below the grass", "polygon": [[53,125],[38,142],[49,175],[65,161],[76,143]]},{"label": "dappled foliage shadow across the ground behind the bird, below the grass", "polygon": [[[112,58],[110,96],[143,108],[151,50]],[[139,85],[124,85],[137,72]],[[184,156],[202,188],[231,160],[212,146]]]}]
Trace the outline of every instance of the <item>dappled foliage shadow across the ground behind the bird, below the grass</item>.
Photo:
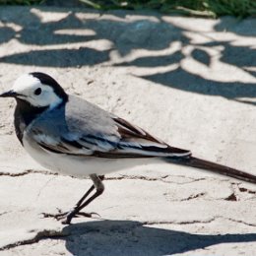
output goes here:
[{"label": "dappled foliage shadow across the ground behind the bird, below the grass", "polygon": [[[13,8],[0,10],[0,43],[15,38],[28,47],[9,49],[1,54],[0,63],[132,66],[132,75],[159,85],[256,104],[256,52],[253,41],[248,41],[248,36],[255,35],[250,30],[256,25],[253,19],[223,18],[201,32],[187,20],[176,23],[175,17],[166,20],[150,13],[132,13],[131,18],[129,12],[121,11],[21,10],[18,15],[13,15]],[[14,26],[19,29],[15,31]]]}]

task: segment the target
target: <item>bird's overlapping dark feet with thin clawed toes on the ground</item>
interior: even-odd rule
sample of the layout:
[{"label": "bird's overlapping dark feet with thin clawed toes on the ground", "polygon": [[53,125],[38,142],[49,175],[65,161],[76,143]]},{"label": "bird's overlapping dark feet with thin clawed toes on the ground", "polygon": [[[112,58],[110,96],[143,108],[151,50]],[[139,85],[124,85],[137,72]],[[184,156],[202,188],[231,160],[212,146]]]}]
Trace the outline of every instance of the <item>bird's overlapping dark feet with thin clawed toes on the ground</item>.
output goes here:
[{"label": "bird's overlapping dark feet with thin clawed toes on the ground", "polygon": [[70,224],[73,218],[93,218],[94,216],[100,217],[97,213],[77,212],[76,209],[73,209],[69,212],[62,212],[60,209],[58,209],[57,214],[42,213],[42,216],[43,218],[54,218],[57,221],[63,220],[61,222],[62,224]]}]

